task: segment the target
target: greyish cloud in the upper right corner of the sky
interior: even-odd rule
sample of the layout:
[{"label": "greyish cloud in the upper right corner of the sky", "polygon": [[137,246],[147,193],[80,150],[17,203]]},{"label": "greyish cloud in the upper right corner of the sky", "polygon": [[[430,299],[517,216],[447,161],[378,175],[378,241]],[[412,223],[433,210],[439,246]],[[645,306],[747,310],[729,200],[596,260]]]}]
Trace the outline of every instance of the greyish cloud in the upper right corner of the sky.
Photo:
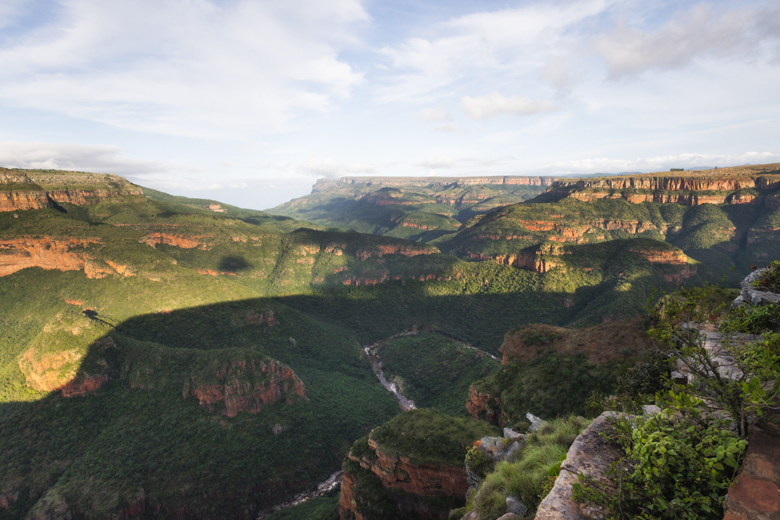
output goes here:
[{"label": "greyish cloud in the upper right corner of the sky", "polygon": [[[780,36],[780,8],[714,11],[700,3],[675,12],[655,30],[631,27],[619,20],[609,33],[594,38],[612,78],[648,69],[683,67],[695,58],[733,58],[756,54],[764,41]],[[773,21],[774,20],[774,21]]]}]

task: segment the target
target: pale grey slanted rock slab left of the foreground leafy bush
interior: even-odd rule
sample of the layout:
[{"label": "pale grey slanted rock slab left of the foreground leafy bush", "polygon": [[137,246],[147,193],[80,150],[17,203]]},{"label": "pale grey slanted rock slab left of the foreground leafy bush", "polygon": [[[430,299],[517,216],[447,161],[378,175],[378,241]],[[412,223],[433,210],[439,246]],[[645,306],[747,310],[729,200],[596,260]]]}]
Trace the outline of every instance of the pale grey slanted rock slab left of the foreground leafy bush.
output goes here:
[{"label": "pale grey slanted rock slab left of the foreground leafy bush", "polygon": [[555,479],[555,485],[547,497],[539,504],[535,520],[590,520],[600,518],[599,511],[590,511],[586,504],[572,500],[572,484],[577,482],[580,473],[594,480],[612,486],[604,476],[609,465],[625,455],[619,446],[609,444],[601,433],[612,433],[608,422],[609,414],[604,412],[594,419],[583,433],[569,447],[566,460],[561,463],[561,472]]}]

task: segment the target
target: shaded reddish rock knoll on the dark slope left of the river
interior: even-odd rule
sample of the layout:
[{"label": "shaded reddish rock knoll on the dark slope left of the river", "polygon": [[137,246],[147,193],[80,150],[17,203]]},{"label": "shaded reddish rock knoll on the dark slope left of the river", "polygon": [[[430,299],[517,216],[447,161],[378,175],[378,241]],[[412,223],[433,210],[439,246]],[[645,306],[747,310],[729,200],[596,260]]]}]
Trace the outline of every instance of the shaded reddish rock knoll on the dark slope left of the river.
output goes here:
[{"label": "shaded reddish rock knoll on the dark slope left of the river", "polygon": [[[212,384],[191,377],[183,397],[192,395],[201,406],[228,417],[239,412],[258,413],[282,399],[292,405],[294,396],[307,398],[303,381],[293,369],[274,359],[234,361],[222,366],[215,375],[218,383]],[[132,381],[131,385],[136,386]]]}]

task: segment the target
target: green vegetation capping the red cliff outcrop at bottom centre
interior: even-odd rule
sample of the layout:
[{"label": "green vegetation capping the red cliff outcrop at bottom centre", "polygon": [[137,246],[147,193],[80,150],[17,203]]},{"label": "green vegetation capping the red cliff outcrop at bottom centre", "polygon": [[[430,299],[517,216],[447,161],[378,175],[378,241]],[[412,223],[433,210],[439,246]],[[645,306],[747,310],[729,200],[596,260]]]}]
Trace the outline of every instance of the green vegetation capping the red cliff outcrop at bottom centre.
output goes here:
[{"label": "green vegetation capping the red cliff outcrop at bottom centre", "polygon": [[383,453],[400,453],[413,464],[463,466],[474,440],[496,435],[494,426],[434,409],[403,412],[379,426],[371,438]]}]

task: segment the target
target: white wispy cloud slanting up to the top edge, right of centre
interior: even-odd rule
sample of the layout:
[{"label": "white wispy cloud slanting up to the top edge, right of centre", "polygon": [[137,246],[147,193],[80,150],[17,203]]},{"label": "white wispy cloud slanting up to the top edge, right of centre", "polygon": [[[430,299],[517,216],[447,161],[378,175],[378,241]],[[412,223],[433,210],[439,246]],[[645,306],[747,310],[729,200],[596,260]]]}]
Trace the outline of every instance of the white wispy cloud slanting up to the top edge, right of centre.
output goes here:
[{"label": "white wispy cloud slanting up to the top edge, right of centre", "polygon": [[[459,81],[497,74],[516,80],[537,72],[546,57],[577,48],[577,27],[614,0],[541,2],[516,9],[473,12],[425,27],[424,34],[377,50],[386,69],[381,101],[433,99]],[[572,33],[572,34],[570,34]],[[449,95],[447,91],[445,95]]]}]

